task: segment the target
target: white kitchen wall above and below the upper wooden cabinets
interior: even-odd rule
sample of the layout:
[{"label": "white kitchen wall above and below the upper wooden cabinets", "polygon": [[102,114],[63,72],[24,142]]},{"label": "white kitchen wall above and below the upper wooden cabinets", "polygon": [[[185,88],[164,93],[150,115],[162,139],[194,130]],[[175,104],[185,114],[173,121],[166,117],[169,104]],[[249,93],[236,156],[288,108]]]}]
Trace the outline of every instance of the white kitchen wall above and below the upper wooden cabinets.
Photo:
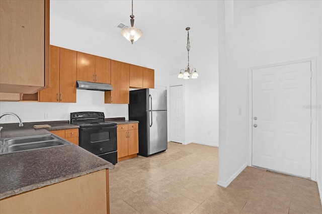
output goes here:
[{"label": "white kitchen wall above and below the upper wooden cabinets", "polygon": [[[131,45],[121,36],[107,34],[74,24],[50,14],[50,44],[76,51],[99,55],[114,60],[154,69],[156,87],[169,85],[169,59],[156,52]],[[104,104],[104,92],[77,89],[76,103],[0,102],[0,114],[14,112],[23,122],[69,120],[69,113],[77,111],[102,111],[106,117],[128,119],[127,104]],[[49,119],[44,114],[49,113]],[[16,123],[1,119],[0,123]]]}]

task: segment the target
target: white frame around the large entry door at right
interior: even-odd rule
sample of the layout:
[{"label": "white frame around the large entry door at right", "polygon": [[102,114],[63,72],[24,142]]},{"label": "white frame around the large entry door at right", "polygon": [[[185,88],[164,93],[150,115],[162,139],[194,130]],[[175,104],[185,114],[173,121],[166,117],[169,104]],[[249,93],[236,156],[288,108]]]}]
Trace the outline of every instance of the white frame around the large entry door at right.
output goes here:
[{"label": "white frame around the large entry door at right", "polygon": [[[252,166],[252,158],[253,158],[253,87],[252,87],[252,73],[254,69],[259,68],[267,68],[267,67],[275,67],[275,66],[281,66],[281,65],[289,65],[293,63],[301,63],[301,62],[310,62],[311,63],[311,173],[310,173],[310,179],[313,181],[316,181],[316,163],[317,163],[317,142],[316,142],[316,110],[317,108],[312,108],[312,106],[316,106],[316,57],[309,57],[299,60],[293,60],[293,61],[286,61],[286,62],[280,62],[280,63],[274,63],[274,64],[268,64],[268,65],[261,65],[261,66],[254,66],[248,68],[248,126],[247,126],[247,132],[248,132],[248,165]],[[304,106],[303,106],[304,108]]]}]

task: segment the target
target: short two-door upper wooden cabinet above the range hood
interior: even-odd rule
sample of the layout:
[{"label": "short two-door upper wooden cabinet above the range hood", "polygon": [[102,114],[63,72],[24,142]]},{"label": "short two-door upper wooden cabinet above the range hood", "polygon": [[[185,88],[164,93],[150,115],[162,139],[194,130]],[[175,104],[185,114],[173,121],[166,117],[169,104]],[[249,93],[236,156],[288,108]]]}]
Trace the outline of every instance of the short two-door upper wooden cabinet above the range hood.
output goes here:
[{"label": "short two-door upper wooden cabinet above the range hood", "polygon": [[77,52],[77,80],[111,83],[111,59]]}]

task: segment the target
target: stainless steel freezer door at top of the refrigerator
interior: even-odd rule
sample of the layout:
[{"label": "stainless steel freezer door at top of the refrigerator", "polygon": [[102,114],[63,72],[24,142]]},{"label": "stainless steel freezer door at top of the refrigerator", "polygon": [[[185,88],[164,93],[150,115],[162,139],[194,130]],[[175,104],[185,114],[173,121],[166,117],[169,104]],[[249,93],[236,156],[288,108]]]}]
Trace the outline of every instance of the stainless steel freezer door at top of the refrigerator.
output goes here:
[{"label": "stainless steel freezer door at top of the refrigerator", "polygon": [[167,110],[167,90],[147,90],[148,111]]}]

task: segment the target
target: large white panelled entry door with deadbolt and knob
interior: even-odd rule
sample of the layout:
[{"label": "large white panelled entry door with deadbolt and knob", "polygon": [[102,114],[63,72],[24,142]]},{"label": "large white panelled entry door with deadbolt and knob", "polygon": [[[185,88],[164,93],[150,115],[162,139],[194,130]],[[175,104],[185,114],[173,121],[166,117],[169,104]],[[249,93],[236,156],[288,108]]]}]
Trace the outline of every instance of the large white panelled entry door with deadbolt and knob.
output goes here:
[{"label": "large white panelled entry door with deadbolt and knob", "polygon": [[252,164],[310,177],[311,63],[252,70]]}]

